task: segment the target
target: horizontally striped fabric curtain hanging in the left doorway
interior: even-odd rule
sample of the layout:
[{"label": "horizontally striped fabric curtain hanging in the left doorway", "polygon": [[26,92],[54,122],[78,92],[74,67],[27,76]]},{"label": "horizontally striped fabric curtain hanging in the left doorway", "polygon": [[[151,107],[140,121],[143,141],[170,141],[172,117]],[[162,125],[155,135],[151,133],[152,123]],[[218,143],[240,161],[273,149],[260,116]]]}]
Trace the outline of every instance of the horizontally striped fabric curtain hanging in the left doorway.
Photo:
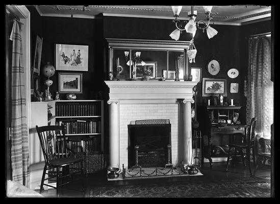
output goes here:
[{"label": "horizontally striped fabric curtain hanging in the left doorway", "polygon": [[30,186],[29,144],[27,127],[26,76],[22,66],[22,43],[20,25],[14,20],[10,40],[12,53],[12,118],[11,163],[13,181]]}]

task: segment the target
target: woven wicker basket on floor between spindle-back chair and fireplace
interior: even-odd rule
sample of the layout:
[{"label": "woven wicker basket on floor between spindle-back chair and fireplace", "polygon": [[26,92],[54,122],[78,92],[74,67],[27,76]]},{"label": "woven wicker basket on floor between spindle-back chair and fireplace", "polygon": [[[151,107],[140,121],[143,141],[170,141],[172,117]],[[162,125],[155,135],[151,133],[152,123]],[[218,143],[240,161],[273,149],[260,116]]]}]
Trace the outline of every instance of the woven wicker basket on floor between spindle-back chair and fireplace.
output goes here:
[{"label": "woven wicker basket on floor between spindle-back chair and fireplace", "polygon": [[[101,151],[88,151],[88,152],[76,152],[76,158],[83,158],[84,174],[94,173],[104,169],[104,154]],[[73,156],[72,156],[73,157]],[[73,164],[70,166],[70,173],[77,170],[72,168],[80,168],[80,164]]]}]

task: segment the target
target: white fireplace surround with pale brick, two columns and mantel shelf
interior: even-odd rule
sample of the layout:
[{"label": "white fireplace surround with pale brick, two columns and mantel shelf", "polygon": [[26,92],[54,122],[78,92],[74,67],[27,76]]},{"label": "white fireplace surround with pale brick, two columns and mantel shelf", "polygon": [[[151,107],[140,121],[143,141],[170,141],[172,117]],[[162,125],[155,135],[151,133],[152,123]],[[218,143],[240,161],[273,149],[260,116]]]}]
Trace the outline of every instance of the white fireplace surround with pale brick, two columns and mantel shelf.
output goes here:
[{"label": "white fireplace surround with pale brick, two columns and mantel shelf", "polygon": [[[128,168],[128,125],[169,119],[172,164],[191,163],[192,88],[187,81],[105,81],[109,92],[109,167]],[[141,164],[139,164],[141,165]]]}]

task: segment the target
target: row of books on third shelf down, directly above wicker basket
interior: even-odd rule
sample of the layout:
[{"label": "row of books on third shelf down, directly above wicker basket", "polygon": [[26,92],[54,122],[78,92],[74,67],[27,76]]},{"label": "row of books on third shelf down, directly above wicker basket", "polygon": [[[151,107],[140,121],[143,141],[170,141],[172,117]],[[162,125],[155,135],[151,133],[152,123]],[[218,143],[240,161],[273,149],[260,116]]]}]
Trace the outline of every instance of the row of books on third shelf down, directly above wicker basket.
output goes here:
[{"label": "row of books on third shelf down, directly above wicker basket", "polygon": [[68,147],[74,152],[101,151],[100,137],[83,140],[69,140]]}]

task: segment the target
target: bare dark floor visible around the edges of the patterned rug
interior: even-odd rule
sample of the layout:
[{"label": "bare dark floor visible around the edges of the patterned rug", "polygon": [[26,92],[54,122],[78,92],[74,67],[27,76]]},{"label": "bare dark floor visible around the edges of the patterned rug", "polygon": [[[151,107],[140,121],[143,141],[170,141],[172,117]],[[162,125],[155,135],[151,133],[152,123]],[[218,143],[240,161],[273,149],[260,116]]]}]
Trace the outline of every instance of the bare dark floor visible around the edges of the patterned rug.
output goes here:
[{"label": "bare dark floor visible around the edges of the patterned rug", "polygon": [[[197,180],[203,180],[203,181],[207,181],[207,180],[215,180],[215,179],[219,179],[219,180],[233,180],[233,179],[239,179],[242,177],[248,177],[250,176],[249,173],[249,169],[247,166],[243,166],[243,164],[238,163],[235,166],[233,165],[229,165],[228,166],[228,171],[225,172],[225,165],[226,162],[215,162],[213,163],[213,168],[211,169],[209,167],[209,163],[205,163],[203,165],[203,167],[200,168],[201,173],[203,174],[203,176],[193,176],[193,178],[197,179]],[[265,177],[265,176],[270,176],[270,168],[269,166],[266,165],[266,167],[262,167],[260,169],[258,169],[256,176],[261,176],[261,177]],[[146,180],[126,180],[126,181],[107,181],[107,176],[106,176],[106,171],[103,172],[98,172],[98,173],[93,173],[93,174],[89,174],[87,176],[87,185],[88,186],[118,186],[118,185],[133,185],[133,184],[139,184],[141,183],[141,185],[143,184],[165,184],[166,182],[170,183],[172,181],[176,181],[176,182],[184,182],[186,183],[188,181],[189,177],[188,176],[184,176],[184,177],[169,177],[169,178],[161,178],[161,179],[146,179]],[[73,189],[73,190],[69,190],[68,188],[63,189],[62,195],[61,197],[77,197],[77,198],[81,198],[83,197],[83,193],[80,190],[82,187],[81,184],[75,183],[75,184],[71,184],[69,185],[69,188]],[[38,191],[39,192],[39,191]],[[56,197],[56,190],[55,189],[49,189],[49,190],[45,190],[44,192],[42,192],[42,195],[45,197]]]}]

